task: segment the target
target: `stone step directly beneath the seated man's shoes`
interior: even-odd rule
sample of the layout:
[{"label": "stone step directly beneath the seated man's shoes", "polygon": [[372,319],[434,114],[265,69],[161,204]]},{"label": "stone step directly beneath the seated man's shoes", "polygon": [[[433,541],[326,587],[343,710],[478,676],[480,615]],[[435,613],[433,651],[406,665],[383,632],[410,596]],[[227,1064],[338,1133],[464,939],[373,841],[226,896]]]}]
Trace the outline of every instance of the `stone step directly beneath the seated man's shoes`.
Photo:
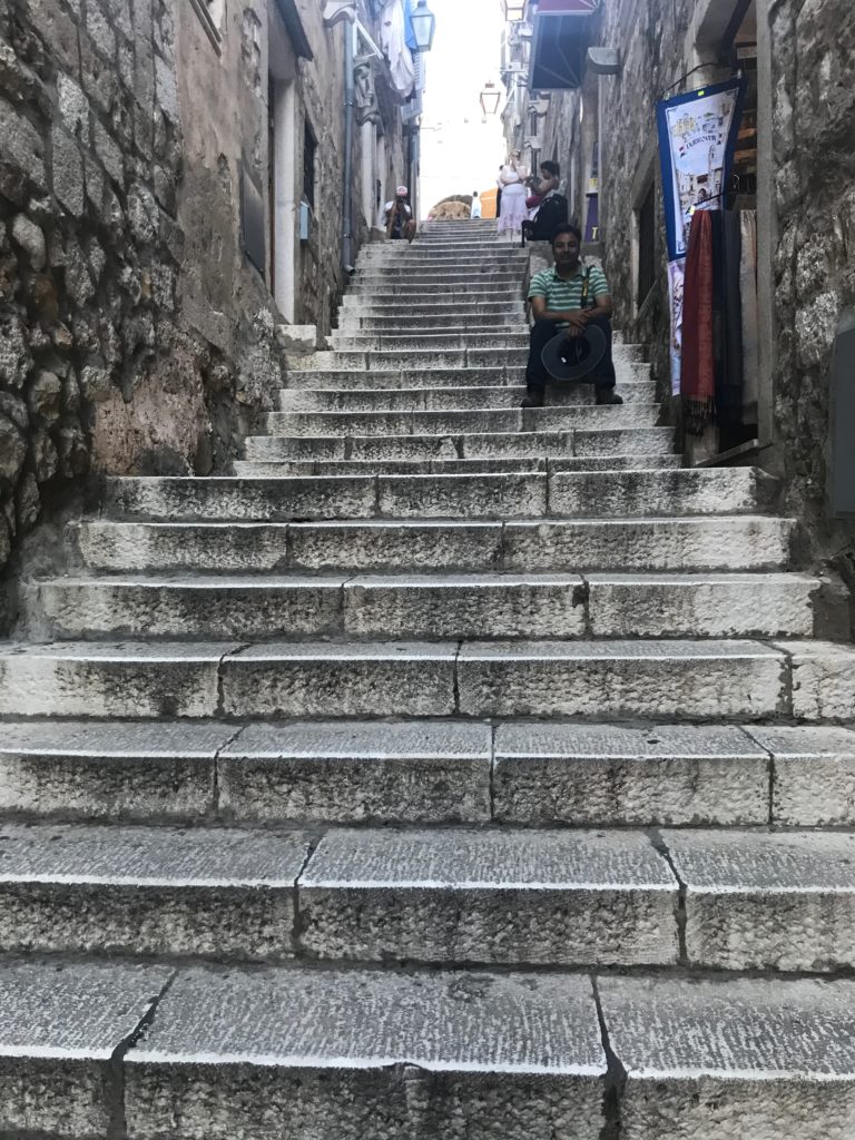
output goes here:
[{"label": "stone step directly beneath the seated man's shoes", "polygon": [[[658,404],[568,405],[547,408],[469,408],[435,412],[269,412],[271,437],[483,435],[579,427],[656,427]],[[668,429],[670,431],[670,429]]]}]

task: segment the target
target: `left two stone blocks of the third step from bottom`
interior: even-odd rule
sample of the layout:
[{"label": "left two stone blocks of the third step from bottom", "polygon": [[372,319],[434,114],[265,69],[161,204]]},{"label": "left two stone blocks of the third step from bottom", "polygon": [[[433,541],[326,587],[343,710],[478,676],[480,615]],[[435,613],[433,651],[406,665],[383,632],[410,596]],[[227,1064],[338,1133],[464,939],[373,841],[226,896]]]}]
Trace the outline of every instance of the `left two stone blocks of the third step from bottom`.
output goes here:
[{"label": "left two stone blocks of the third step from bottom", "polygon": [[486,823],[491,759],[491,727],[459,720],[7,720],[0,813],[196,824]]}]

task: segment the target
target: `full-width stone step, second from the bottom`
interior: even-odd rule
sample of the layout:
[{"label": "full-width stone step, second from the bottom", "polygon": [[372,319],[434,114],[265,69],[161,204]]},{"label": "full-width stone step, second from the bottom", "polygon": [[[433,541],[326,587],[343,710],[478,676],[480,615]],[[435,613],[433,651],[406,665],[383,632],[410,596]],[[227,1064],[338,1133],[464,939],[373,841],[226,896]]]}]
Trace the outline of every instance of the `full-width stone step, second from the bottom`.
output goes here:
[{"label": "full-width stone step, second from the bottom", "polygon": [[[0,824],[5,953],[852,968],[855,836]],[[681,920],[681,898],[684,910]],[[681,935],[685,951],[681,948]]]}]

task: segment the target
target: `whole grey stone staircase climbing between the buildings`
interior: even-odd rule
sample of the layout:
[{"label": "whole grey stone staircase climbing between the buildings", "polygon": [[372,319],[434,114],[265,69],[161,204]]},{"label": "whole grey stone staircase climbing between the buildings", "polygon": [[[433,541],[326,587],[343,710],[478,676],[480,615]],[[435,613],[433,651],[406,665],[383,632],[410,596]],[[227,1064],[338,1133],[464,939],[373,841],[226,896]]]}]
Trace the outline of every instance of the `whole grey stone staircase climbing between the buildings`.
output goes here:
[{"label": "whole grey stone staircase climbing between the buildings", "polygon": [[30,587],[0,1137],[855,1137],[833,585],[640,348],[519,408],[524,258],[369,247],[237,477],[112,480]]}]

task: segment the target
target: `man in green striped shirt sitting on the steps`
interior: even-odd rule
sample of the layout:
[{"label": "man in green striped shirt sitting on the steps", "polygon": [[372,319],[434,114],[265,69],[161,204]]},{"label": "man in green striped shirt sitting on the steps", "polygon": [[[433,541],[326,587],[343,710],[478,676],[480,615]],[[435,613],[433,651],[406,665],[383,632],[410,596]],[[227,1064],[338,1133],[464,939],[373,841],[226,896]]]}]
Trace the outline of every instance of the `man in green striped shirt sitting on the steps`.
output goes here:
[{"label": "man in green striped shirt sitting on the steps", "polygon": [[583,269],[579,262],[581,231],[576,226],[559,226],[552,237],[555,264],[535,274],[529,285],[529,301],[535,315],[529,363],[526,368],[523,408],[542,408],[551,378],[540,355],[562,328],[567,336],[581,336],[593,324],[605,333],[606,352],[586,377],[594,384],[597,404],[622,404],[614,391],[614,365],[611,359],[611,296],[605,274],[596,266]]}]

